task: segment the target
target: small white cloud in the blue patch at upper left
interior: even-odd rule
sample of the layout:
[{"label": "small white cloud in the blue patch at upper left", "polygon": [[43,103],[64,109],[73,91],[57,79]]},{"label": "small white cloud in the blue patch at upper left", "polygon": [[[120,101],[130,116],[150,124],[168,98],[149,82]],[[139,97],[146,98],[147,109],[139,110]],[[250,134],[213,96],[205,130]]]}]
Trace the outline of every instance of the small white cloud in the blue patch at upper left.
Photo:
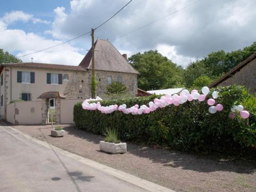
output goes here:
[{"label": "small white cloud in the blue patch at upper left", "polygon": [[21,21],[26,23],[26,22],[29,22],[30,20],[33,22],[33,24],[36,24],[36,23],[49,24],[50,23],[46,20],[36,18],[32,14],[24,13],[23,11],[12,11],[10,13],[6,13],[0,19],[7,25],[12,24],[16,21]]}]

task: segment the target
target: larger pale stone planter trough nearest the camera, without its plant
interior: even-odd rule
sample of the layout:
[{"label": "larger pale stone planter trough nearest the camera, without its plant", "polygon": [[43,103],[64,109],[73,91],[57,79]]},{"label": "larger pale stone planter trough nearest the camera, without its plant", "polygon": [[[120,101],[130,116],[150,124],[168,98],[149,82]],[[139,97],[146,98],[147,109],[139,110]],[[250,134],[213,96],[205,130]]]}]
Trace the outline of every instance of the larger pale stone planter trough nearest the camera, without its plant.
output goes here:
[{"label": "larger pale stone planter trough nearest the camera, without its plant", "polygon": [[112,154],[126,153],[126,143],[109,143],[106,141],[100,141],[99,148],[103,152]]}]

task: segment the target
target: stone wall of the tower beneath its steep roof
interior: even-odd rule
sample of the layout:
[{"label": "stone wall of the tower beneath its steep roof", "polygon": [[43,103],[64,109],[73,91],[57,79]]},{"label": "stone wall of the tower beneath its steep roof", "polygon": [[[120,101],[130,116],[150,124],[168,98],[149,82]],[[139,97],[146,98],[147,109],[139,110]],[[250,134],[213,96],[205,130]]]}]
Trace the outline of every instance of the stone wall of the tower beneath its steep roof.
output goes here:
[{"label": "stone wall of the tower beneath its steep roof", "polygon": [[[137,74],[134,73],[120,73],[120,72],[109,72],[109,71],[95,71],[96,81],[97,84],[97,95],[102,97],[104,92],[106,92],[106,86],[108,86],[106,82],[106,78],[108,76],[112,77],[112,82],[114,80],[117,80],[117,77],[121,77],[121,81],[123,84],[125,84],[127,88],[127,95],[137,95]],[[88,79],[89,82],[91,82],[91,70],[90,70],[90,76]]]}]

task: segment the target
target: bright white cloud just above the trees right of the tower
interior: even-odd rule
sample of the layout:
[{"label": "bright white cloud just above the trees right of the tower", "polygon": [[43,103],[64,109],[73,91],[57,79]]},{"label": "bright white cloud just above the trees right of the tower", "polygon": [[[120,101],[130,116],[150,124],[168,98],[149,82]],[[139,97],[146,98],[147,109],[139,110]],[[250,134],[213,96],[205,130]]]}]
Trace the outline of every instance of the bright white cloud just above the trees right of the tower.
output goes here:
[{"label": "bright white cloud just above the trees right of the tower", "polygon": [[175,46],[160,44],[157,46],[157,50],[163,56],[166,56],[168,59],[172,60],[178,65],[181,65],[183,68],[185,68],[189,62],[191,61],[193,62],[196,60],[195,57],[186,57],[186,56],[177,54],[177,50]]}]

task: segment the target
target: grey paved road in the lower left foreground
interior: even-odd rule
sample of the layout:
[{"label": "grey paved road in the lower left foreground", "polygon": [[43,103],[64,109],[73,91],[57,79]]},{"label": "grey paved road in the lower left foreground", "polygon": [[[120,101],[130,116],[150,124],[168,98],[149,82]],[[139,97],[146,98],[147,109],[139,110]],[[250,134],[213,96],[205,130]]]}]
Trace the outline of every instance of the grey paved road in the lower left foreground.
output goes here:
[{"label": "grey paved road in the lower left foreground", "polygon": [[146,191],[0,126],[0,192]]}]

